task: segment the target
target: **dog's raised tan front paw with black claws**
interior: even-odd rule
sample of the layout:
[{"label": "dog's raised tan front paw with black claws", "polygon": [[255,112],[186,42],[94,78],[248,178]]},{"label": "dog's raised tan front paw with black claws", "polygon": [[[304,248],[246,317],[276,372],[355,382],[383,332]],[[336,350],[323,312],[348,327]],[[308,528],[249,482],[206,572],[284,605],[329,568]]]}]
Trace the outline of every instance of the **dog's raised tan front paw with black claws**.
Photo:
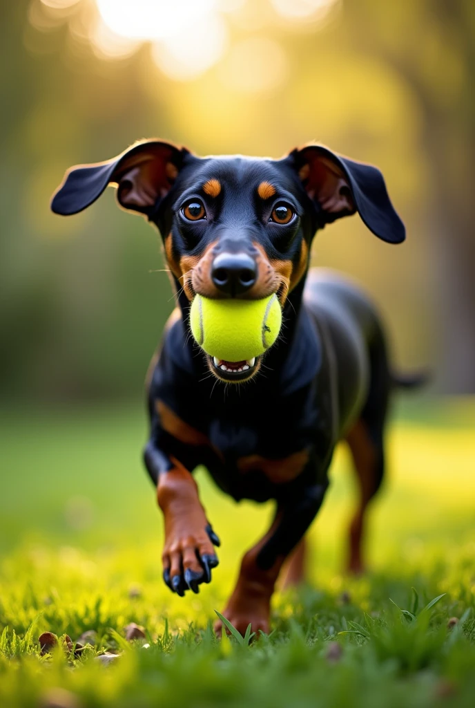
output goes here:
[{"label": "dog's raised tan front paw with black claws", "polygon": [[180,597],[187,590],[199,593],[201,583],[211,581],[211,570],[219,563],[213,544],[218,546],[220,540],[209,524],[203,530],[167,538],[162,555],[163,580],[172,593]]}]

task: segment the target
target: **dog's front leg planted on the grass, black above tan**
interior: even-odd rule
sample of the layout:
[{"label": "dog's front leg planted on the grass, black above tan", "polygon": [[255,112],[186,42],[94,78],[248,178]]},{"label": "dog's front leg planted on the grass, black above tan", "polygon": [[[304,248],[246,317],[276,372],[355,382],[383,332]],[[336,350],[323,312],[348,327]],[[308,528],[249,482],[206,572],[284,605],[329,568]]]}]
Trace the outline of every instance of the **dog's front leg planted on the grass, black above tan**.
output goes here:
[{"label": "dog's front leg planted on the grass, black above tan", "polygon": [[[278,503],[276,516],[266,535],[242,559],[238,583],[223,611],[226,619],[245,634],[269,634],[271,597],[283,561],[298,544],[322,504],[327,484],[315,484],[289,494]],[[221,621],[215,632],[221,632]]]}]

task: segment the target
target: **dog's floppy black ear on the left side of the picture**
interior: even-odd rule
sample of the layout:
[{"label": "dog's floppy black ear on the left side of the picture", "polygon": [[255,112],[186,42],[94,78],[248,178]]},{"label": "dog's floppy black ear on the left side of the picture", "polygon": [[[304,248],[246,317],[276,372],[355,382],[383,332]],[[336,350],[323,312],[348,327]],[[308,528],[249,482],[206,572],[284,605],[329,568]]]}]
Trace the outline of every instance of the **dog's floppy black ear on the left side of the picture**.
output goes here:
[{"label": "dog's floppy black ear on the left side of the picture", "polygon": [[117,186],[117,200],[124,209],[150,214],[157,200],[168,194],[187,154],[186,148],[148,140],[112,160],[71,167],[53,195],[52,211],[77,214],[112,184]]}]

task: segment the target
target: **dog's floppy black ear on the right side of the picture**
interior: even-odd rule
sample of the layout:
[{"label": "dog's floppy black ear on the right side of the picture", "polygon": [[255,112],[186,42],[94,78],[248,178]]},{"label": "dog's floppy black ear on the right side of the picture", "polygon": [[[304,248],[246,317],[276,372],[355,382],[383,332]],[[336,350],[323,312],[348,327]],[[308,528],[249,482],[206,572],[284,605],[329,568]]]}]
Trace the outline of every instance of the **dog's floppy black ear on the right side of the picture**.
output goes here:
[{"label": "dog's floppy black ear on the right side of the picture", "polygon": [[372,165],[334,154],[322,145],[293,150],[291,158],[322,224],[357,210],[368,229],[383,241],[400,244],[406,229],[394,211],[384,178]]}]

